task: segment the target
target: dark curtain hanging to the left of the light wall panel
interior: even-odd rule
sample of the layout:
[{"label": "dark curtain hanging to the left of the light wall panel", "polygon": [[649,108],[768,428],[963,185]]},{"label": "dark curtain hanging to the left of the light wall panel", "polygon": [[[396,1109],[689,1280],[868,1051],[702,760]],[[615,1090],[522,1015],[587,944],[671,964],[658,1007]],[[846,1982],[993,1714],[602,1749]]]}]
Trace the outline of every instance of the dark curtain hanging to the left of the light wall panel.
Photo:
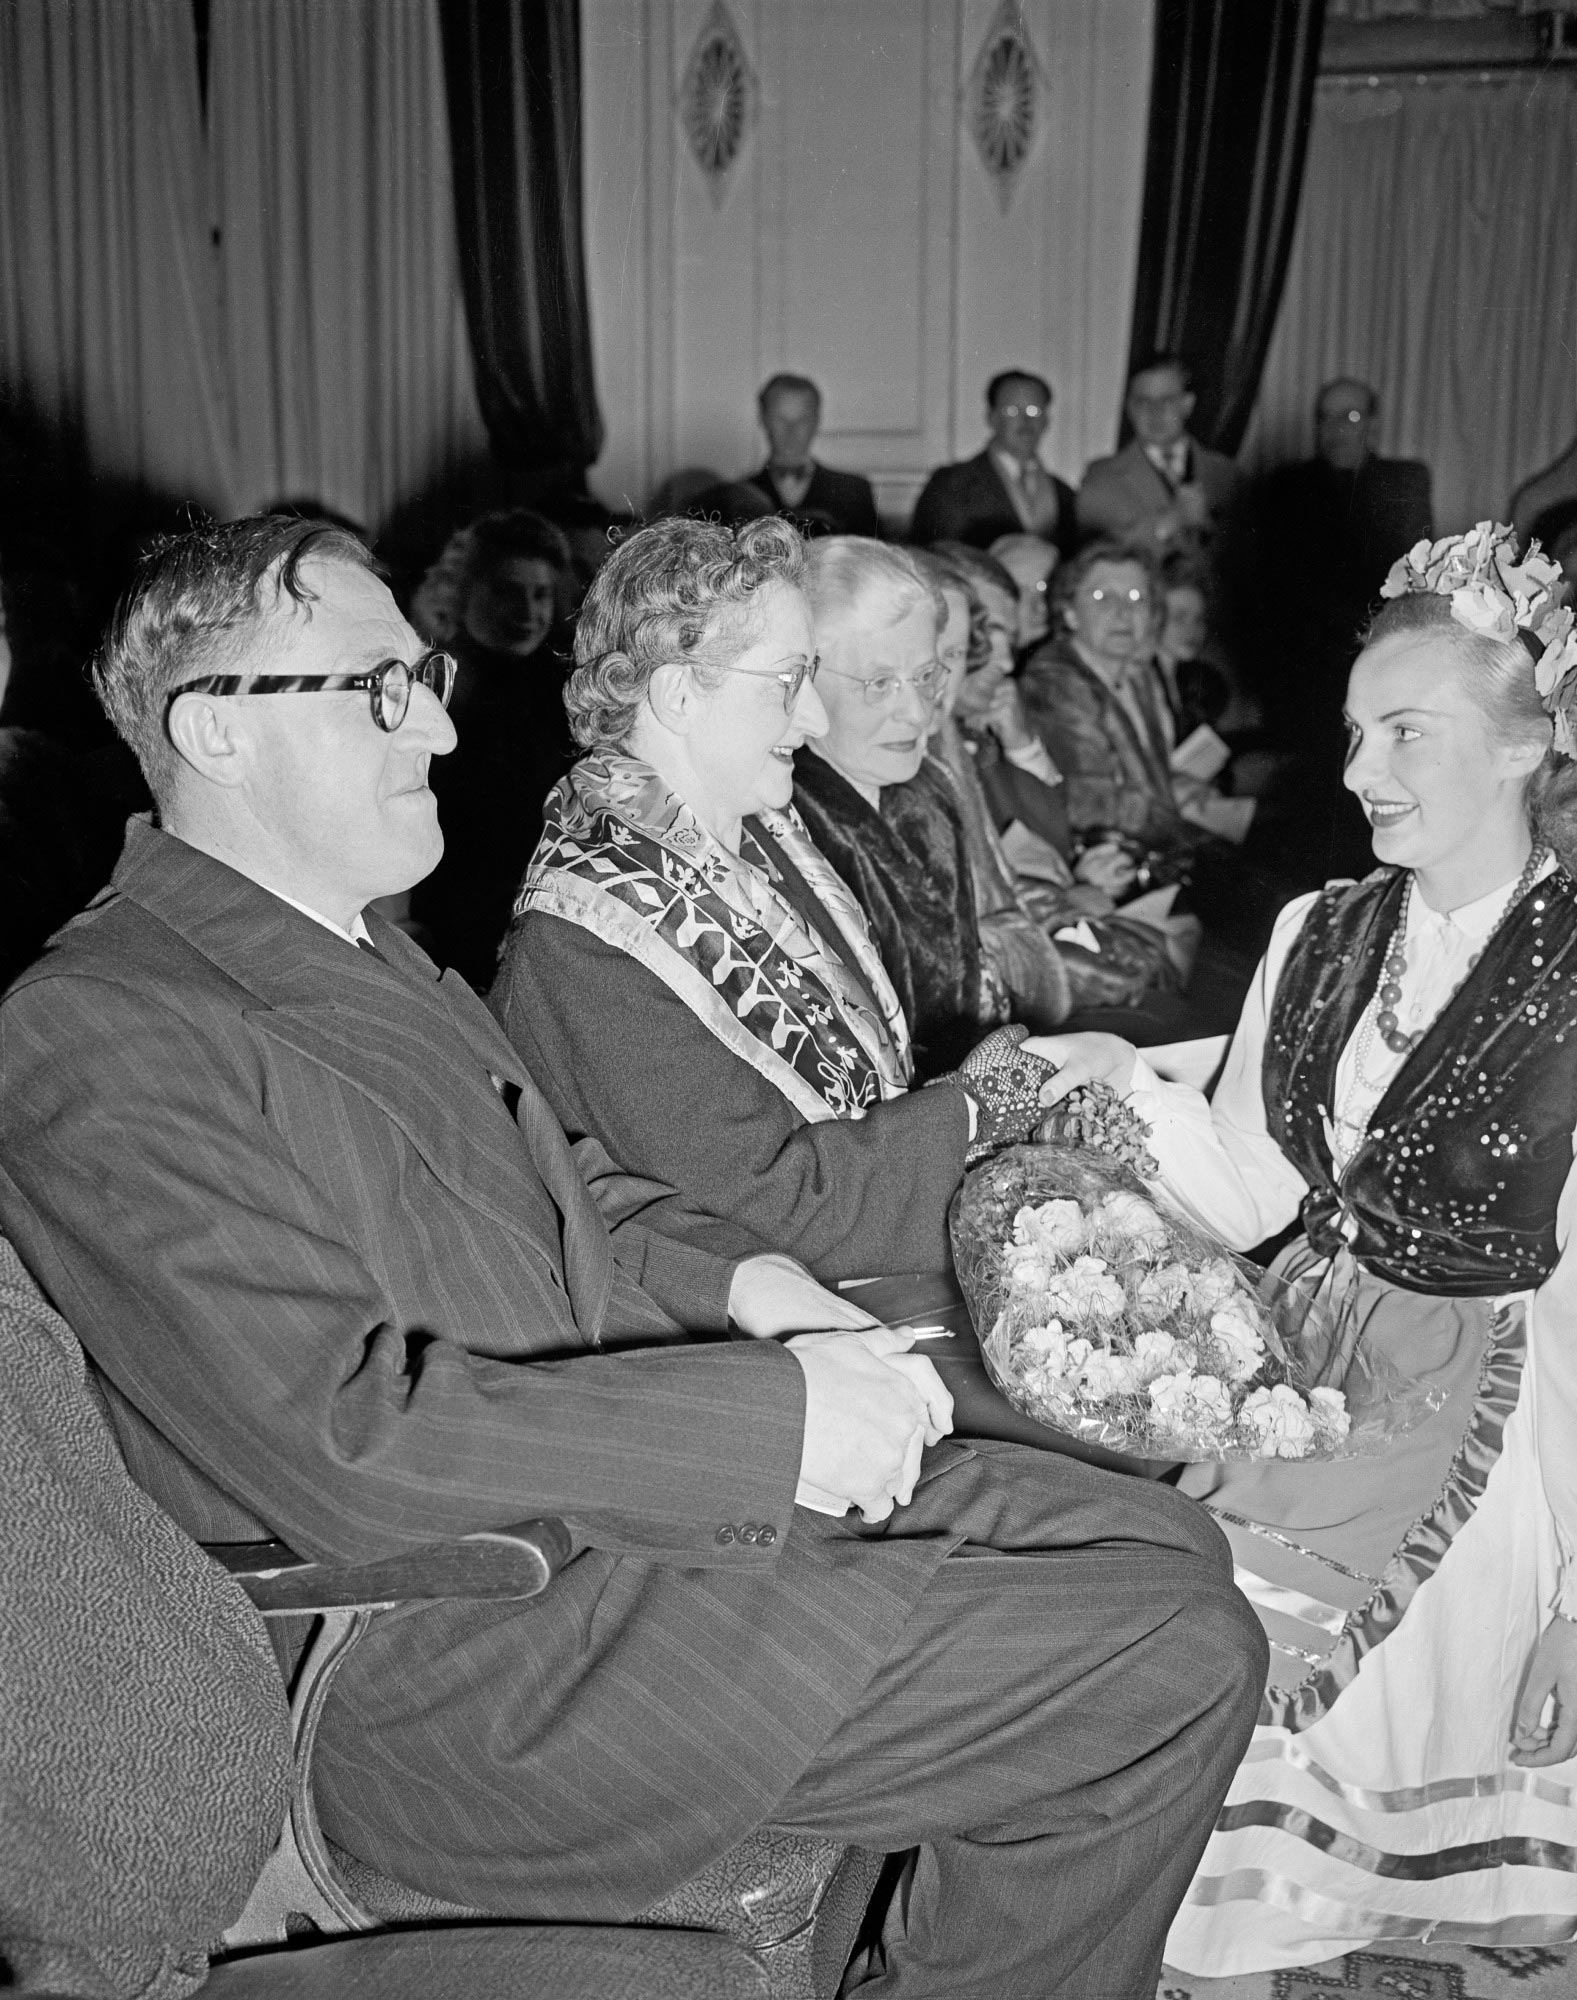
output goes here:
[{"label": "dark curtain hanging to the left of the light wall panel", "polygon": [[602,448],[580,196],[578,0],[438,0],[460,282],[492,448],[578,486]]}]

